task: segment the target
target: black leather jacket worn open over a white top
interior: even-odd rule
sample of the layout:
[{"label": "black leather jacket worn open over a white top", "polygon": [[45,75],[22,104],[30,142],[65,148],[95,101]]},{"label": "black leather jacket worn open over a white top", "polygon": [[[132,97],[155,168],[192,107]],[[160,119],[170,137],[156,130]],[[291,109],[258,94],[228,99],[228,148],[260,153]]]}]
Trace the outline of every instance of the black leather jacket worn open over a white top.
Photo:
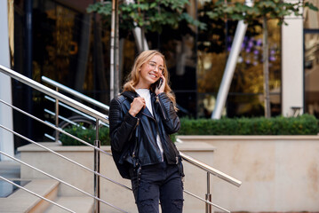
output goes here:
[{"label": "black leather jacket worn open over a white top", "polygon": [[[145,107],[137,117],[134,117],[129,114],[129,110],[132,100],[136,97],[138,97],[136,92],[124,91],[111,100],[109,110],[111,146],[118,152],[126,146],[131,146],[132,152],[137,138],[137,158],[141,166],[162,162],[163,157],[169,164],[177,164],[179,151],[171,142],[169,134],[177,132],[180,123],[171,99],[165,93],[156,96],[151,92],[154,116]],[[163,156],[156,142],[157,131],[163,145]]]}]

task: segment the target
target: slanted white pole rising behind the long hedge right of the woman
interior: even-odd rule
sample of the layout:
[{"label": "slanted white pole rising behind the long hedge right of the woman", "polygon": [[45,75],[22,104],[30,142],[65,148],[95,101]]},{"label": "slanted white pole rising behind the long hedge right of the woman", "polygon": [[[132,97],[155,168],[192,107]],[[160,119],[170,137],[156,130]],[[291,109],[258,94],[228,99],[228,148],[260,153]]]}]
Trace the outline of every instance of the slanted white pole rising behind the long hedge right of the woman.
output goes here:
[{"label": "slanted white pole rising behind the long hedge right of the woman", "polygon": [[[252,0],[247,0],[246,5],[251,6]],[[223,107],[225,106],[227,94],[229,91],[230,83],[232,82],[233,75],[235,72],[235,65],[237,63],[238,55],[241,51],[241,46],[243,43],[243,37],[246,33],[247,24],[243,20],[238,21],[238,25],[235,31],[234,42],[227,59],[226,68],[224,71],[223,78],[220,83],[219,93],[217,95],[216,106],[211,114],[211,119],[219,119]]]}]

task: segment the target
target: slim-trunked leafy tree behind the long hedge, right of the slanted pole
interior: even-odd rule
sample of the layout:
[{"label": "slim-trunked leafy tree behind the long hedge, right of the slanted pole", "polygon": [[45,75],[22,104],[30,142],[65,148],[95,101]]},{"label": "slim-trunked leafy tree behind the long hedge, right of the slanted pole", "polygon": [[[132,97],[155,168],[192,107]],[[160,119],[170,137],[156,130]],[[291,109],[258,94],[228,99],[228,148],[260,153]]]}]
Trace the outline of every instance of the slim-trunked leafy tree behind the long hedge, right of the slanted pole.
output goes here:
[{"label": "slim-trunked leafy tree behind the long hedge, right of the slanted pole", "polygon": [[268,118],[270,114],[269,101],[269,67],[268,67],[268,41],[267,41],[267,20],[279,20],[278,25],[287,25],[284,21],[285,16],[294,14],[295,16],[302,16],[302,8],[309,7],[309,9],[318,11],[314,4],[298,0],[295,3],[285,3],[282,0],[256,0],[253,6],[247,6],[241,2],[235,4],[230,3],[230,0],[218,0],[215,7],[206,14],[215,20],[230,19],[230,20],[244,20],[248,24],[252,21],[259,20],[263,25],[263,69],[264,69],[264,102],[265,102],[265,116]]}]

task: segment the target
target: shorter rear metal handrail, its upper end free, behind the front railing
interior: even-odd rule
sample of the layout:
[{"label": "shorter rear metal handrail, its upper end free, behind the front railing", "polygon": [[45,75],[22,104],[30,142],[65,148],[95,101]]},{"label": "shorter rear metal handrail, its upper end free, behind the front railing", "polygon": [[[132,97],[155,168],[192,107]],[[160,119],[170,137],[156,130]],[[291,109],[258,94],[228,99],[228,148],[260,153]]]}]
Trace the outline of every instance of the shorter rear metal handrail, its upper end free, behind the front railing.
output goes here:
[{"label": "shorter rear metal handrail, its upper end free, behind the front railing", "polygon": [[67,91],[69,94],[74,95],[79,99],[84,99],[86,102],[91,103],[92,105],[99,106],[100,108],[105,109],[107,111],[109,110],[109,106],[101,103],[100,101],[97,101],[96,99],[92,99],[78,91],[72,90],[71,88],[61,83],[57,83],[48,77],[42,76],[41,79],[42,81],[44,81],[44,83],[49,83],[50,85],[55,86],[56,88],[59,88],[62,91]]}]

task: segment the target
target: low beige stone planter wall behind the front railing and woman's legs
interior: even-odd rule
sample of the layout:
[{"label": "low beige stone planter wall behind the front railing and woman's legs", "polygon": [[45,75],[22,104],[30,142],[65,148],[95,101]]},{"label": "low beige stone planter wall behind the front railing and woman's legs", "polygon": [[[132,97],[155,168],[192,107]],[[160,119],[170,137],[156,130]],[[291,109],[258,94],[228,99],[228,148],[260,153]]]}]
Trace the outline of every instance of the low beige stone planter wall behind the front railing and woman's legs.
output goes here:
[{"label": "low beige stone planter wall behind the front railing and woman's legs", "polygon": [[[93,170],[93,149],[91,147],[60,146],[56,143],[41,144]],[[203,142],[196,142],[195,144],[188,142],[177,144],[177,146],[179,151],[184,154],[190,155],[191,157],[212,166],[212,156],[214,151],[213,146]],[[110,153],[110,146],[102,146],[102,149]],[[93,174],[90,171],[84,170],[76,164],[68,162],[59,156],[44,150],[40,146],[33,144],[22,146],[19,148],[19,151],[23,162],[27,162],[39,170],[44,170],[54,177],[58,177],[87,193],[93,194]],[[184,182],[185,190],[204,198],[207,190],[207,173],[188,162],[184,162],[184,169],[186,174]],[[114,179],[116,182],[131,187],[130,180],[123,179],[119,176],[112,157],[107,154],[100,154],[100,173],[103,176]],[[38,171],[32,170],[26,166],[21,166],[21,178],[37,179],[50,177],[44,176]],[[122,186],[110,183],[103,177],[100,177],[100,185],[100,198],[102,200],[108,201],[117,207],[128,210],[129,212],[138,212],[134,203],[132,191],[129,191]],[[77,192],[70,188],[68,185],[60,184],[59,187],[60,196],[87,196],[84,195],[84,193]],[[235,188],[234,191],[236,190],[237,189]],[[199,201],[186,193],[184,193],[184,199],[184,212],[204,212],[205,205],[203,201]],[[101,212],[118,212],[116,209],[112,209],[103,203],[100,204],[100,207]],[[227,209],[227,206],[225,206],[225,208]]]}]

